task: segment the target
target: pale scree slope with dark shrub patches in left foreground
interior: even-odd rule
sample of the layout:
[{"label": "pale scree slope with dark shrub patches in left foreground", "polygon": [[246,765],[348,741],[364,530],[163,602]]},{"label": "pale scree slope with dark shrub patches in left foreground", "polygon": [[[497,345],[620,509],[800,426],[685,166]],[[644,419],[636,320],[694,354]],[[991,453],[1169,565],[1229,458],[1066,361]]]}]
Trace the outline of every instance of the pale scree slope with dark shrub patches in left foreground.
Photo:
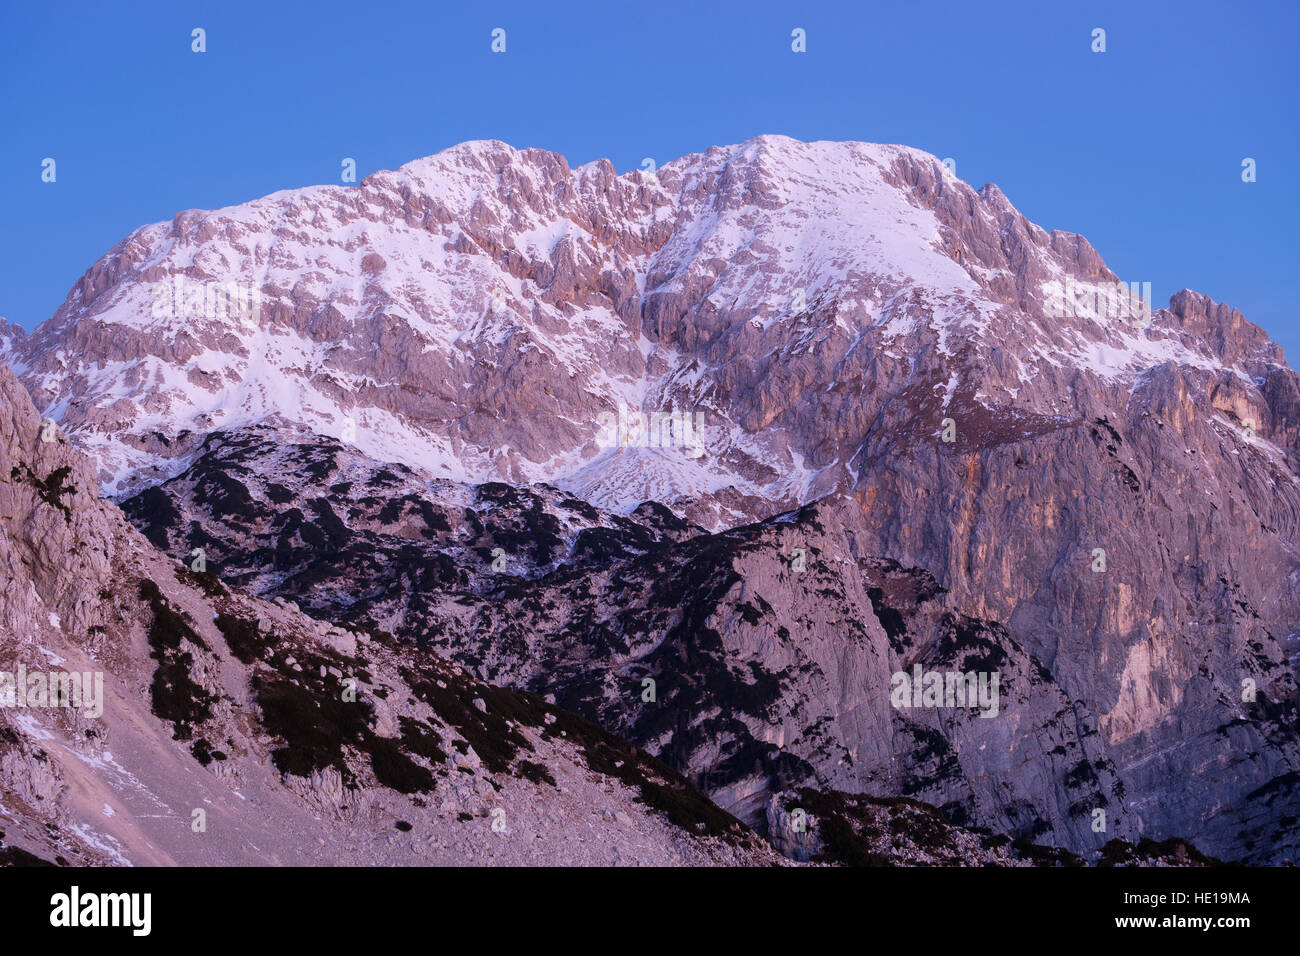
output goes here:
[{"label": "pale scree slope with dark shrub patches in left foreground", "polygon": [[160,554],[3,367],[0,464],[0,861],[780,860],[538,696]]}]

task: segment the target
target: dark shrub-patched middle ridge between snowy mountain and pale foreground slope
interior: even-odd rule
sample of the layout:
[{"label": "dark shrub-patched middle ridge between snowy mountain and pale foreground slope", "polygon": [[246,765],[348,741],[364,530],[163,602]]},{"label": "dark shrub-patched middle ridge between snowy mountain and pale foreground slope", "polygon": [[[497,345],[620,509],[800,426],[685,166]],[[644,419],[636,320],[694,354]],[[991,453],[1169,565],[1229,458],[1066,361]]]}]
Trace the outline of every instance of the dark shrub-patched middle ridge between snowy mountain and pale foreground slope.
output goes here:
[{"label": "dark shrub-patched middle ridge between snowy mountain and pale foreground slope", "polygon": [[[814,786],[916,797],[1093,860],[1112,839],[1217,845],[1226,827],[1292,852],[1274,816],[1284,793],[1266,786],[1292,753],[1284,704],[1209,710],[1219,723],[1182,741],[1234,767],[1200,782],[1222,801],[1202,814],[1204,793],[1175,799],[1144,763],[1119,763],[1092,685],[1070,693],[928,571],[857,553],[833,501],[711,533],[655,503],[618,515],[547,485],[429,481],[264,423],[211,436],[124,507],[239,587],[554,695],[759,830],[775,793]],[[894,706],[893,675],[916,666],[996,674],[996,706]],[[1252,666],[1287,685],[1278,663]],[[1144,793],[1176,804],[1170,822],[1138,812]]]}]

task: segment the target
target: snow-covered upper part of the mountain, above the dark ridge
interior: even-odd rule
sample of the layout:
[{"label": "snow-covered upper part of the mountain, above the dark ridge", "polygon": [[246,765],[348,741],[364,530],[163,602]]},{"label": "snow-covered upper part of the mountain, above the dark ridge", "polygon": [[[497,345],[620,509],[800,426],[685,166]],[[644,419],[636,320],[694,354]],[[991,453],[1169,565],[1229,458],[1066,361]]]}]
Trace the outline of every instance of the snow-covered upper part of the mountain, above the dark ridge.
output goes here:
[{"label": "snow-covered upper part of the mountain, above the dark ridge", "polygon": [[904,147],[760,137],[620,177],[474,142],[138,229],[4,354],[110,494],[280,412],[434,477],[788,505],[853,486],[880,392],[937,433],[963,406],[1069,420],[1074,375],[1280,362],[1257,330],[1141,328],[1149,303],[1044,310],[1114,282]]}]

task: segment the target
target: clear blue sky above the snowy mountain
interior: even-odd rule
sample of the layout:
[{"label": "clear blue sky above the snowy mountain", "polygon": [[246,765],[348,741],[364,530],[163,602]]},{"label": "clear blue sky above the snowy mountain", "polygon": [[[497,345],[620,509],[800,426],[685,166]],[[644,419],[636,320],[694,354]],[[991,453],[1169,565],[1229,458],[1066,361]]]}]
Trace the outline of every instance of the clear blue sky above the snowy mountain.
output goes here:
[{"label": "clear blue sky above the snowy mountain", "polygon": [[[32,328],[135,226],[338,182],[344,156],[364,177],[494,138],[625,170],[781,133],[952,156],[971,185],[997,182],[1044,228],[1087,235],[1121,278],[1152,282],[1157,306],[1208,293],[1294,358],[1297,10],[4,0],[0,315]],[[806,53],[790,51],[794,27]]]}]

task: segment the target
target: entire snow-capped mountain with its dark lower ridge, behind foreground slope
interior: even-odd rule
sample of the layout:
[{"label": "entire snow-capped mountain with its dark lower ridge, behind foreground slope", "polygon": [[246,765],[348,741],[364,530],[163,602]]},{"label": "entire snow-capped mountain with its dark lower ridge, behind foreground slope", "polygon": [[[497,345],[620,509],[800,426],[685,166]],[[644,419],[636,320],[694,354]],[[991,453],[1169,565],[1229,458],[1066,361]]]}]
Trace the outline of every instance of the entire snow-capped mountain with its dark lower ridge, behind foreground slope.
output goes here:
[{"label": "entire snow-capped mountain with its dark lower ridge, behind foreground slope", "polygon": [[[807,783],[1294,857],[1300,388],[1117,281],[902,147],[469,143],[143,228],[0,339],[173,555],[555,693],[760,827]],[[997,717],[892,704],[967,662]]]}]

